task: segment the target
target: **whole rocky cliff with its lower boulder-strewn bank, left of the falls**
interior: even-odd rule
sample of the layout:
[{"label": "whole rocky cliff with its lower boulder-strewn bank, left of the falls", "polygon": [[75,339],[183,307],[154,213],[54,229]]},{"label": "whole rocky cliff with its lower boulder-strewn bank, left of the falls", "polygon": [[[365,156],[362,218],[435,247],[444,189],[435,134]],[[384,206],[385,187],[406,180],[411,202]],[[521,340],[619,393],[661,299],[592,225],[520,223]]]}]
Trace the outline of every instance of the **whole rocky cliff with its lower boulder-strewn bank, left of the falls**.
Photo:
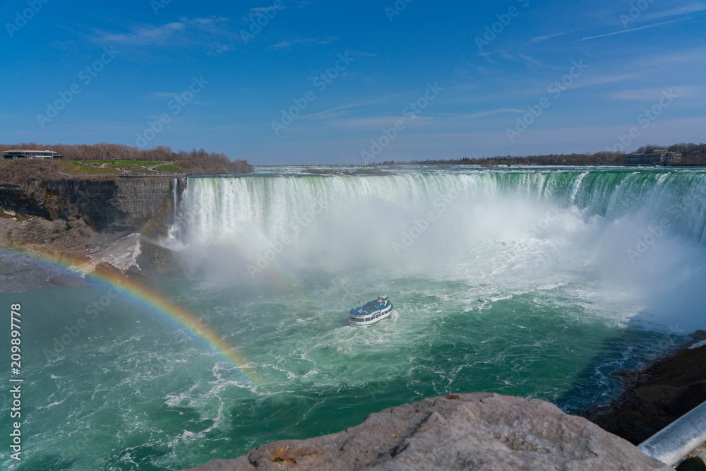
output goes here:
[{"label": "whole rocky cliff with its lower boulder-strewn bank, left of the falls", "polygon": [[32,254],[88,268],[114,263],[137,278],[183,275],[178,254],[153,242],[167,234],[186,179],[16,181],[0,183],[0,292],[85,284],[78,275],[35,263]]}]

